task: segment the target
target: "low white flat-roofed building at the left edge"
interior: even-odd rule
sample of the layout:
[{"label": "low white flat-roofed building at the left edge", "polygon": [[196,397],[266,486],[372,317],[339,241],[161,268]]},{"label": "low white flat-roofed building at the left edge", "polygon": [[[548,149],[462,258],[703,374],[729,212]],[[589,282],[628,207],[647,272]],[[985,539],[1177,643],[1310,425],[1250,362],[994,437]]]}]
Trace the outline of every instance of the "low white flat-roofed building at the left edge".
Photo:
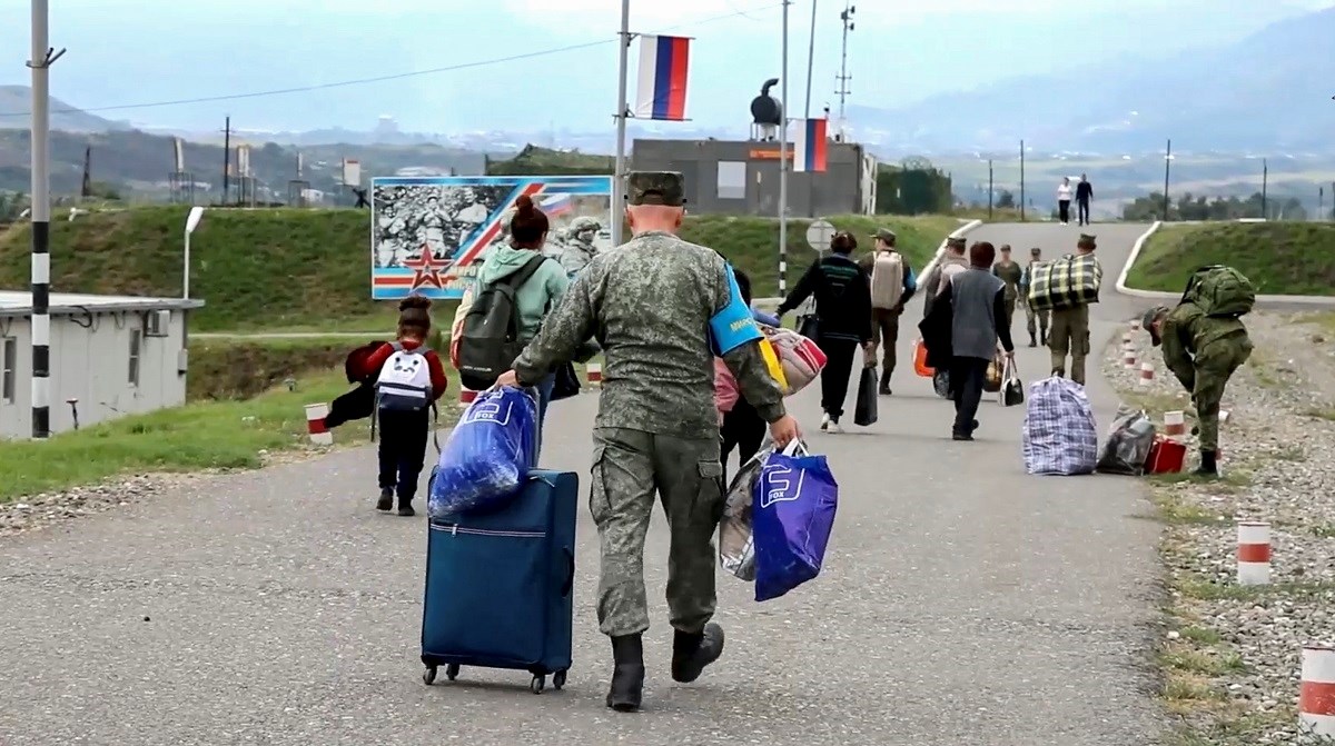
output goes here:
[{"label": "low white flat-roofed building at the left edge", "polygon": [[[51,431],[186,402],[186,312],[203,300],[51,295]],[[32,435],[32,295],[0,291],[0,438]]]}]

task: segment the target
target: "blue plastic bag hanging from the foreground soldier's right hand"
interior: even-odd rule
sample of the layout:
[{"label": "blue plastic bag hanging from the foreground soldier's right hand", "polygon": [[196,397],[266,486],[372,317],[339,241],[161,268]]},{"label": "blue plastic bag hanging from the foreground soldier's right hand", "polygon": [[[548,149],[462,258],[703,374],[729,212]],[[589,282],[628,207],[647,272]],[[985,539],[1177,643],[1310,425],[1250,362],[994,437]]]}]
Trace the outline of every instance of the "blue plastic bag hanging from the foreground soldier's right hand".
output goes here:
[{"label": "blue plastic bag hanging from the foreground soldier's right hand", "polygon": [[754,500],[756,601],[769,601],[820,575],[838,483],[825,456],[813,456],[793,440],[765,460]]}]

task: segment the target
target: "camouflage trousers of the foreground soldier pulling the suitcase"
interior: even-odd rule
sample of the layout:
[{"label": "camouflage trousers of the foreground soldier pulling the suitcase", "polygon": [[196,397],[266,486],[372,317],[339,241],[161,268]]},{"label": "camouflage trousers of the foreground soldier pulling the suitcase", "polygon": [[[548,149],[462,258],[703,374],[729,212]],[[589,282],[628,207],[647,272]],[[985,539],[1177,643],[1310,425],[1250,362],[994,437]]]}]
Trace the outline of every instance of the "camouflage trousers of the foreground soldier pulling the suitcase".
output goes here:
[{"label": "camouflage trousers of the foreground soldier pulling the suitcase", "polygon": [[649,629],[645,535],[654,495],[668,516],[672,626],[698,633],[714,615],[714,531],[724,514],[718,438],[686,439],[595,427],[589,510],[598,526],[598,627],[610,637]]}]

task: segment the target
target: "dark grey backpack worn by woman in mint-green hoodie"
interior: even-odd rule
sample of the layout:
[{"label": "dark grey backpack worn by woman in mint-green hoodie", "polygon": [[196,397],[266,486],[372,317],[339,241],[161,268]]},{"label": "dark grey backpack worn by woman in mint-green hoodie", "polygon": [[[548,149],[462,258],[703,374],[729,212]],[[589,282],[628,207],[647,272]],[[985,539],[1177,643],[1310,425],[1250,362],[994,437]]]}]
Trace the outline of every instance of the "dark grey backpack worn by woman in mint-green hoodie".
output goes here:
[{"label": "dark grey backpack worn by woman in mint-green hoodie", "polygon": [[515,296],[546,260],[546,256],[534,256],[513,275],[482,288],[473,299],[459,334],[459,382],[466,388],[490,388],[523,352],[526,340],[519,339]]}]

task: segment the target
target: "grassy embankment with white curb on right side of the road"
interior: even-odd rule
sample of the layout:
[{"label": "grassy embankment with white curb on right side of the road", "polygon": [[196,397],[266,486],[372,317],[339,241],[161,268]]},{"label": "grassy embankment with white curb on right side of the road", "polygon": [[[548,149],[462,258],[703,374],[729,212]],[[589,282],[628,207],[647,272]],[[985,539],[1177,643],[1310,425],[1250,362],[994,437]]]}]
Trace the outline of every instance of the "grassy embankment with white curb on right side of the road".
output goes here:
[{"label": "grassy embankment with white curb on right side of the road", "polygon": [[1236,267],[1262,295],[1335,295],[1335,224],[1164,226],[1145,242],[1127,286],[1181,292],[1206,264]]}]

